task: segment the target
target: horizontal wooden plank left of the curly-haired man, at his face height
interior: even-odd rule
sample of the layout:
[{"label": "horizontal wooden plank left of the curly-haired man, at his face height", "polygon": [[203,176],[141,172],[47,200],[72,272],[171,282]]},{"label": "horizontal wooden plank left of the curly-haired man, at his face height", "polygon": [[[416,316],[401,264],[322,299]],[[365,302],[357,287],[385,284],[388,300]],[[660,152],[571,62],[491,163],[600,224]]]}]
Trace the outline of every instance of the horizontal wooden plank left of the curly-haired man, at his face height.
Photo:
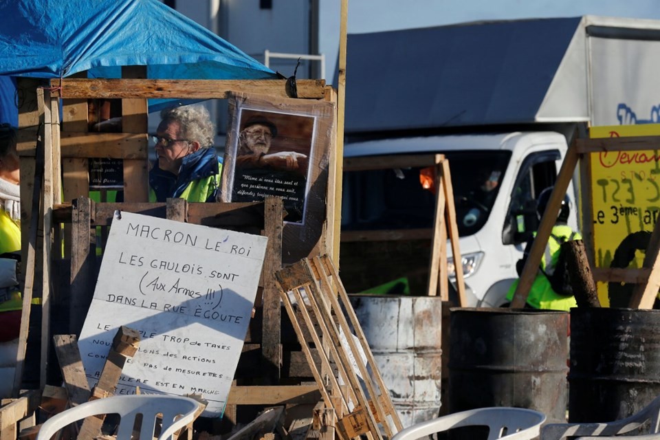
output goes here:
[{"label": "horizontal wooden plank left of the curly-haired man, at his face height", "polygon": [[62,157],[146,160],[148,159],[148,135],[146,133],[63,131],[61,148]]}]

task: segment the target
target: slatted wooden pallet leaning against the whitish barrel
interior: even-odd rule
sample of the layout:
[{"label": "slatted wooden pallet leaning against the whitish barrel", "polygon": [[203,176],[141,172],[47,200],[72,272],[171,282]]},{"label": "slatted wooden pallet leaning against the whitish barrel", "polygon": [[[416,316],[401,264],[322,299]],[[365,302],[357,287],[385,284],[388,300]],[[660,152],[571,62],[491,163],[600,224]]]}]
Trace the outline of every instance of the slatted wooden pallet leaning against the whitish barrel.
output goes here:
[{"label": "slatted wooden pallet leaning against the whitish barrel", "polygon": [[[338,418],[340,437],[391,438],[401,421],[329,257],[303,259],[276,278],[322,399]],[[311,344],[320,354],[320,368]]]}]

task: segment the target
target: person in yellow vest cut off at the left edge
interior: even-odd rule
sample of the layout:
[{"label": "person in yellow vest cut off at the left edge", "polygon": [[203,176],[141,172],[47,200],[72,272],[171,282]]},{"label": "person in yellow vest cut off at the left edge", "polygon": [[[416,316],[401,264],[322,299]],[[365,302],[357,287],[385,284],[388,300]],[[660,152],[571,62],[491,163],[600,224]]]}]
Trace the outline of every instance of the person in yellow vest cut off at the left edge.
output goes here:
[{"label": "person in yellow vest cut off at the left edge", "polygon": [[16,267],[21,252],[21,171],[16,129],[0,124],[0,342],[18,338],[21,292]]}]

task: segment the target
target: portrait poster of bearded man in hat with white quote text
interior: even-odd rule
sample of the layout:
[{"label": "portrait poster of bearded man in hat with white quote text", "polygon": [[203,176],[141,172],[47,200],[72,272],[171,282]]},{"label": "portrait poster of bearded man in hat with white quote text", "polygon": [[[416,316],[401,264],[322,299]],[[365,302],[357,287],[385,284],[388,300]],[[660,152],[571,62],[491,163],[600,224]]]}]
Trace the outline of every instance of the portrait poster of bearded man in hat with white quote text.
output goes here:
[{"label": "portrait poster of bearded man in hat with white quote text", "polygon": [[[236,94],[223,161],[223,201],[281,197],[287,214],[283,261],[308,256],[326,219],[334,105],[316,100]],[[307,253],[305,253],[307,252]]]}]

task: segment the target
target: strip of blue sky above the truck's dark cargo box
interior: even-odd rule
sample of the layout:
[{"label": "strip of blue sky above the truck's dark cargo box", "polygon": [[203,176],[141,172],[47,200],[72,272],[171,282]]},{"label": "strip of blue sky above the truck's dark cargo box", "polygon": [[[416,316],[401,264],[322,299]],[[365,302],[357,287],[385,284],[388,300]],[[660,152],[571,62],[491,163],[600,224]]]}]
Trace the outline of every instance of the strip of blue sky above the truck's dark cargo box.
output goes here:
[{"label": "strip of blue sky above the truck's dark cargo box", "polygon": [[[319,52],[331,83],[339,51],[340,0],[320,0]],[[604,15],[660,19],[659,0],[349,0],[348,32],[426,28],[478,20]],[[351,50],[350,47],[347,50]],[[347,67],[347,76],[350,75]]]}]

